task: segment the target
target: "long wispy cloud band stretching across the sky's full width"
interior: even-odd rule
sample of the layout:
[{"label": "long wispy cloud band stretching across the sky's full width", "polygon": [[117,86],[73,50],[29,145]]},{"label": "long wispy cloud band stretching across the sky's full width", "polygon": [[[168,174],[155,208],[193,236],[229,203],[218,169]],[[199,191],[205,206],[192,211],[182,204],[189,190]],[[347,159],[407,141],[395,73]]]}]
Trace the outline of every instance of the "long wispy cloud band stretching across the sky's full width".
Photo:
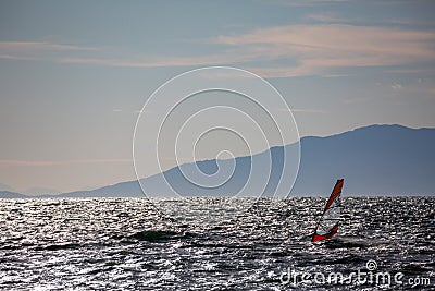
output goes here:
[{"label": "long wispy cloud band stretching across the sky's full width", "polygon": [[[326,15],[327,16],[327,15]],[[313,16],[312,16],[313,17]],[[325,17],[316,15],[314,17]],[[328,20],[334,20],[330,15]],[[263,77],[301,75],[343,76],[334,69],[400,66],[435,61],[435,32],[349,24],[288,25],[259,28],[240,35],[206,39],[213,54],[119,57],[101,48],[50,43],[0,41],[0,58],[44,56],[65,64],[121,68],[238,65]],[[35,53],[21,53],[20,51]],[[55,51],[57,53],[49,53]],[[76,51],[85,51],[77,53]],[[44,53],[37,53],[44,52]],[[62,53],[60,53],[62,52]],[[101,57],[103,56],[103,57]],[[270,65],[270,63],[279,65]]]}]

